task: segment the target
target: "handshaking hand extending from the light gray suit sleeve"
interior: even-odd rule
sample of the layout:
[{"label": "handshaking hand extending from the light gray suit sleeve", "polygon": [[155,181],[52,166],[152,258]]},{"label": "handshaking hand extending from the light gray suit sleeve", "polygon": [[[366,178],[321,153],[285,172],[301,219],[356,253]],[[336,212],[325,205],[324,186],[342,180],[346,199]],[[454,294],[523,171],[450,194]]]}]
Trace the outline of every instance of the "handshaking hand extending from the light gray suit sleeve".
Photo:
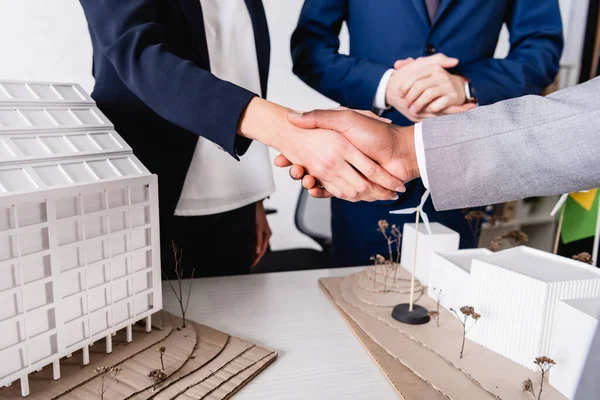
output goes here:
[{"label": "handshaking hand extending from the light gray suit sleeve", "polygon": [[[299,128],[330,129],[342,133],[361,152],[403,182],[419,176],[412,127],[391,125],[350,110],[316,110],[301,115],[290,114],[289,119]],[[286,167],[292,163],[279,156],[275,165]],[[296,179],[303,179],[303,186],[310,189],[313,197],[335,196],[335,193],[328,193],[326,187],[315,187],[319,184],[317,179],[304,173],[300,165],[294,165],[290,170],[292,177],[295,175]]]}]

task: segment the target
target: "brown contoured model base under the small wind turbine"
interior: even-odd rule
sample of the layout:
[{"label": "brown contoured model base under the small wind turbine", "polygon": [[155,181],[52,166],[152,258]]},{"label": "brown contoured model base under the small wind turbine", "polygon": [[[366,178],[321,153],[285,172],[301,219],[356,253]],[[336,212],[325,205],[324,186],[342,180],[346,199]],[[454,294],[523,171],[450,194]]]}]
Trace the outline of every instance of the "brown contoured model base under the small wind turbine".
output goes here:
[{"label": "brown contoured model base under the small wind turbine", "polygon": [[[400,270],[398,277],[406,278],[408,273],[401,275]],[[356,282],[366,273],[372,271],[319,282],[402,399],[532,399],[523,392],[522,382],[530,378],[537,391],[539,373],[469,340],[461,359],[462,324],[453,314],[440,308],[439,327],[435,318],[424,325],[398,322],[391,316],[392,307],[361,300]],[[404,296],[403,302],[408,302],[409,295]],[[437,308],[425,295],[418,302],[430,311]],[[547,381],[542,398],[566,400]]]}]

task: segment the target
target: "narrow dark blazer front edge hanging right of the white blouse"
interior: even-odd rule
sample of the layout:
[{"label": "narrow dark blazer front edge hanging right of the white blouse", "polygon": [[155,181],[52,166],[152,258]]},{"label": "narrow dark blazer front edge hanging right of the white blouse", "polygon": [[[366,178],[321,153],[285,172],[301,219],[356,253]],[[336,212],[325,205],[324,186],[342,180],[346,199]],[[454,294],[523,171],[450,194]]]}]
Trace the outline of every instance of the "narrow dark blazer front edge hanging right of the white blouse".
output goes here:
[{"label": "narrow dark blazer front edge hanging right of the white blouse", "polygon": [[269,79],[269,64],[271,59],[271,43],[269,40],[269,27],[262,0],[245,0],[252,27],[254,28],[254,43],[256,44],[256,57],[258,59],[258,72],[260,75],[260,89],[263,98],[267,97],[267,80]]}]

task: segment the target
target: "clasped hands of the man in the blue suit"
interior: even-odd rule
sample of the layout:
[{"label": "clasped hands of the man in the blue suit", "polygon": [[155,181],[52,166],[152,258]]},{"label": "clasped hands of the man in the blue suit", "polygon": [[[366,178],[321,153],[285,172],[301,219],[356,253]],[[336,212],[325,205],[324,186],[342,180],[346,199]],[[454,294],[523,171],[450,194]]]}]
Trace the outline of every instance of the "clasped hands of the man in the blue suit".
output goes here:
[{"label": "clasped hands of the man in the blue suit", "polygon": [[396,61],[386,101],[413,122],[470,110],[475,105],[464,104],[463,78],[446,71],[457,64],[441,53]]}]

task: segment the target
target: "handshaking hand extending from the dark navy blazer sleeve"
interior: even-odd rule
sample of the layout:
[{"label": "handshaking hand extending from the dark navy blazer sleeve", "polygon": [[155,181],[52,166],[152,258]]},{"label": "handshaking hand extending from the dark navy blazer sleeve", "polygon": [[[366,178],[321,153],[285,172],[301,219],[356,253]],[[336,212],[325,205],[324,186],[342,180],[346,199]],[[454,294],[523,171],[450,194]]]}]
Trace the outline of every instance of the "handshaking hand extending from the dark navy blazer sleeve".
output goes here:
[{"label": "handshaking hand extending from the dark navy blazer sleeve", "polygon": [[291,162],[304,166],[336,197],[349,201],[390,200],[397,198],[396,192],[405,190],[402,180],[377,165],[340,133],[297,127],[288,121],[288,113],[283,107],[254,98],[242,117],[240,134],[259,139]]}]

